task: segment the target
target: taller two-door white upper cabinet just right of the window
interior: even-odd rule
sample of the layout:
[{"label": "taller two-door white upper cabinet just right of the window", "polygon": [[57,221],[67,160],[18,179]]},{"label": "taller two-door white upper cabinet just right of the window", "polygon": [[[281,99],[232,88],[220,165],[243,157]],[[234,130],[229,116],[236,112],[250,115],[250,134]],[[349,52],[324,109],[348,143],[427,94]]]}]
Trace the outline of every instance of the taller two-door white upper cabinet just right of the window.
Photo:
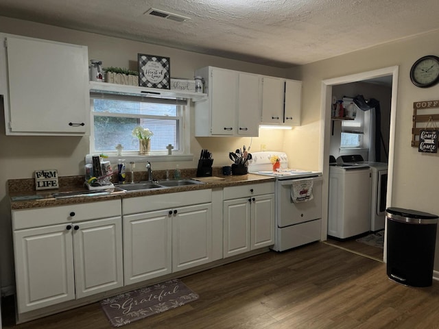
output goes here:
[{"label": "taller two-door white upper cabinet just right of the window", "polygon": [[212,66],[195,75],[203,77],[208,95],[195,103],[195,136],[258,136],[259,75]]}]

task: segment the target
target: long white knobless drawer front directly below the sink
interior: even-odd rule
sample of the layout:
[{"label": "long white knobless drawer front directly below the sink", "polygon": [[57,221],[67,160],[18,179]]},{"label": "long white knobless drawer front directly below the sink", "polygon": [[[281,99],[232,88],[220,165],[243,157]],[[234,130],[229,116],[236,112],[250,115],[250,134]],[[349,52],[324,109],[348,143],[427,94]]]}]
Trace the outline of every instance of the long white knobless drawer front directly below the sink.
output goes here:
[{"label": "long white knobless drawer front directly below the sink", "polygon": [[138,212],[190,206],[192,204],[206,204],[209,202],[212,202],[212,190],[131,197],[129,199],[122,199],[122,212],[123,215],[128,215]]}]

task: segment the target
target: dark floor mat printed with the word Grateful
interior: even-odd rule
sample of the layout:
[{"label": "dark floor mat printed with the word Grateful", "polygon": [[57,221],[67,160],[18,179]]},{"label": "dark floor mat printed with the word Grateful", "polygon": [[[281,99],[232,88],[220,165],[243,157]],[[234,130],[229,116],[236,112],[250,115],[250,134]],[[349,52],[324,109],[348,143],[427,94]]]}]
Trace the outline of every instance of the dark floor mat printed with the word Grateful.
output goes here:
[{"label": "dark floor mat printed with the word Grateful", "polygon": [[175,279],[106,298],[101,306],[112,326],[120,327],[193,300],[198,295]]}]

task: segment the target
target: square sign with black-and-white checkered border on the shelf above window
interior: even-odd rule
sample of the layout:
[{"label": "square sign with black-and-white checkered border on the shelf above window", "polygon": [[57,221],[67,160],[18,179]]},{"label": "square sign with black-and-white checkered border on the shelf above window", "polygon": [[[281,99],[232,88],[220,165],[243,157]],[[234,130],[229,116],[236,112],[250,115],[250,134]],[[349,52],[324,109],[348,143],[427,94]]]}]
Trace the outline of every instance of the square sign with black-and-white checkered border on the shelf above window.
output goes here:
[{"label": "square sign with black-and-white checkered border on the shelf above window", "polygon": [[148,88],[171,88],[171,62],[169,57],[138,54],[139,86]]}]

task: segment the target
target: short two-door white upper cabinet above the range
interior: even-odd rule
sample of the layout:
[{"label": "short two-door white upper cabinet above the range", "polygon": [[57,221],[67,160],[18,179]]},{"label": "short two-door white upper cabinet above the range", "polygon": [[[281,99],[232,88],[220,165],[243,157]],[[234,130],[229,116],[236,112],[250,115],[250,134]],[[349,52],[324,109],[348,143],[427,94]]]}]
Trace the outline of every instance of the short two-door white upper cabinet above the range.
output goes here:
[{"label": "short two-door white upper cabinet above the range", "polygon": [[302,82],[262,78],[262,124],[300,125]]}]

